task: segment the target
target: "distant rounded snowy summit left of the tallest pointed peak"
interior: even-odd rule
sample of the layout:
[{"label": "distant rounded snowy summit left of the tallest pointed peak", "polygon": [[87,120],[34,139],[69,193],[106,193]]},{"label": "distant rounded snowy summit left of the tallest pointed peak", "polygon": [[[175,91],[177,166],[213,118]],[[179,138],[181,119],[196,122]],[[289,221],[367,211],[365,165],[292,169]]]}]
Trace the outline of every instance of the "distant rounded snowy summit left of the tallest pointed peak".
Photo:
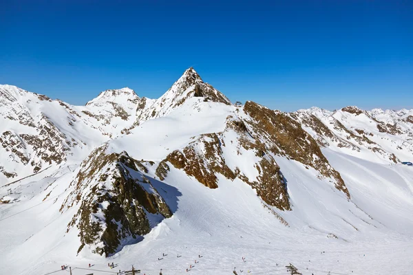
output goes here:
[{"label": "distant rounded snowy summit left of the tallest pointed peak", "polygon": [[86,103],[89,105],[103,104],[105,102],[114,102],[118,104],[127,104],[127,102],[137,103],[139,96],[135,93],[133,89],[128,87],[122,89],[108,89],[101,92],[97,98],[94,98]]}]

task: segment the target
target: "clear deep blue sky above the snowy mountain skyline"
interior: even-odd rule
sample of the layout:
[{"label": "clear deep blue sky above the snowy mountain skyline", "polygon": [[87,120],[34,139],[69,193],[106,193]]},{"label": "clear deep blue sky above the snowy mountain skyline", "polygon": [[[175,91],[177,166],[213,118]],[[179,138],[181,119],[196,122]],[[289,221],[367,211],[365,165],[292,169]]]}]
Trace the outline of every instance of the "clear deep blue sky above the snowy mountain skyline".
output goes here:
[{"label": "clear deep blue sky above the snowy mountain skyline", "polygon": [[0,0],[1,84],[158,98],[191,66],[233,102],[413,109],[413,1]]}]

